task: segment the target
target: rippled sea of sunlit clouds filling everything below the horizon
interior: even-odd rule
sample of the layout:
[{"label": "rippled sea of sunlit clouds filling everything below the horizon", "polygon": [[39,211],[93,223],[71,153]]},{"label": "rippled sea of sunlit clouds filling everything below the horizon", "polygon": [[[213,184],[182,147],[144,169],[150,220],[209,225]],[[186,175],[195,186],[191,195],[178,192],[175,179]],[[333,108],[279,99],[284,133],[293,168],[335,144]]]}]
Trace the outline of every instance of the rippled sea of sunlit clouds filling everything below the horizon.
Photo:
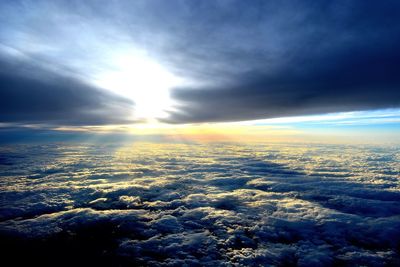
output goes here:
[{"label": "rippled sea of sunlit clouds filling everything below the horizon", "polygon": [[42,264],[400,264],[399,147],[0,148],[5,255]]}]

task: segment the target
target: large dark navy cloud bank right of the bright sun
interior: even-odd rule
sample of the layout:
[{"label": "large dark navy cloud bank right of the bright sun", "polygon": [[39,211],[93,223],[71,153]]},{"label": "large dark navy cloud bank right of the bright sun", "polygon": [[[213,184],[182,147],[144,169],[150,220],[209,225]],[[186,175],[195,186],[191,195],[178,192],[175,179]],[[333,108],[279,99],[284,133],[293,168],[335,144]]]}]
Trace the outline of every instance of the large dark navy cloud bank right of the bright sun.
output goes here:
[{"label": "large dark navy cloud bank right of the bright sun", "polygon": [[398,2],[263,3],[258,8],[242,4],[228,15],[221,12],[215,29],[188,48],[198,55],[189,62],[203,69],[206,85],[175,88],[178,109],[167,121],[400,105]]}]

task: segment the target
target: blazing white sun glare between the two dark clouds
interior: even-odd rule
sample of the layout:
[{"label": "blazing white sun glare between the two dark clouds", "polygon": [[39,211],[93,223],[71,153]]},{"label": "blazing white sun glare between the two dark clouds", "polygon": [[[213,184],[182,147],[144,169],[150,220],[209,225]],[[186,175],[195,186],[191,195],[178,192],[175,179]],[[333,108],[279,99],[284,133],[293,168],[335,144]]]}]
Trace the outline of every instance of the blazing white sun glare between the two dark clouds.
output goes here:
[{"label": "blazing white sun glare between the two dark clouds", "polygon": [[96,75],[96,85],[135,102],[134,117],[154,122],[172,109],[170,89],[182,79],[140,51],[113,53],[108,67]]}]

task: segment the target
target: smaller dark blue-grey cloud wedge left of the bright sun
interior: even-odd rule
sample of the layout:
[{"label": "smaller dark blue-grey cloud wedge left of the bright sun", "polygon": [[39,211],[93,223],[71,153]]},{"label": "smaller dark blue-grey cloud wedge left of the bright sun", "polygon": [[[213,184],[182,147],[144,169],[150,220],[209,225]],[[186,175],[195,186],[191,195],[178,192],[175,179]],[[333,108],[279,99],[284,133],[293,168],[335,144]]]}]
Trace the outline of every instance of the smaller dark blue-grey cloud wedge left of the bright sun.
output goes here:
[{"label": "smaller dark blue-grey cloud wedge left of the bright sun", "polygon": [[1,122],[50,125],[131,122],[131,101],[77,77],[46,70],[33,60],[10,62],[0,58],[0,69]]}]

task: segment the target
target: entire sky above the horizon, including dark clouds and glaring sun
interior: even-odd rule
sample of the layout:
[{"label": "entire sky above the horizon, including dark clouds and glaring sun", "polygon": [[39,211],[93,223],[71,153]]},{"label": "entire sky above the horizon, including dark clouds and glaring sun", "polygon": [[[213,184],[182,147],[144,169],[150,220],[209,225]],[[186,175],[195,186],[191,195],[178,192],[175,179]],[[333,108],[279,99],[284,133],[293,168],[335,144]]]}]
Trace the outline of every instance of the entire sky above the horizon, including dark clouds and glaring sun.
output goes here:
[{"label": "entire sky above the horizon, including dark clouds and glaring sun", "polygon": [[400,142],[399,10],[398,1],[1,1],[0,134]]}]

